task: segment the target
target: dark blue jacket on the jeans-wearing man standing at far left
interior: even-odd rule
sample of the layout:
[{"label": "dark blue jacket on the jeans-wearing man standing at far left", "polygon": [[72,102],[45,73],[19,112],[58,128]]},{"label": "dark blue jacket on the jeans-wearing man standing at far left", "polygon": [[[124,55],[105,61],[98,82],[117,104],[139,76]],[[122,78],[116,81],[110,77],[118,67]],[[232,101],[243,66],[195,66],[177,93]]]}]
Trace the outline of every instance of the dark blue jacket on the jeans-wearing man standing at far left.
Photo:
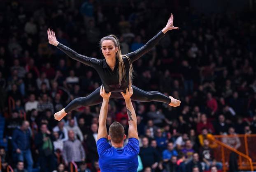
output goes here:
[{"label": "dark blue jacket on the jeans-wearing man standing at far left", "polygon": [[12,145],[13,150],[20,149],[21,151],[25,151],[30,149],[30,131],[21,131],[20,128],[16,128],[12,134]]}]

